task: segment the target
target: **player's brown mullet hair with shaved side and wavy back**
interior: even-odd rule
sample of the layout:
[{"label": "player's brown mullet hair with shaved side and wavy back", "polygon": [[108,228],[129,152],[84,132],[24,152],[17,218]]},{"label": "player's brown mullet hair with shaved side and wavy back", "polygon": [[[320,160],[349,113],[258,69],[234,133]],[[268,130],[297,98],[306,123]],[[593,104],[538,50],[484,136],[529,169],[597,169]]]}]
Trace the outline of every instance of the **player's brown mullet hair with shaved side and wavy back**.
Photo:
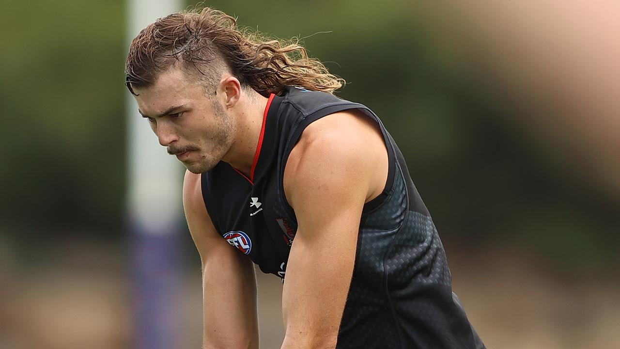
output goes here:
[{"label": "player's brown mullet hair with shaved side and wavy back", "polygon": [[224,71],[265,97],[281,94],[286,86],[333,93],[345,84],[321,61],[309,58],[298,40],[263,40],[258,32],[237,27],[236,19],[209,7],[170,14],[149,24],[131,42],[125,85],[137,96],[133,88],[153,86],[159,73],[177,63],[190,76],[198,76],[211,93]]}]

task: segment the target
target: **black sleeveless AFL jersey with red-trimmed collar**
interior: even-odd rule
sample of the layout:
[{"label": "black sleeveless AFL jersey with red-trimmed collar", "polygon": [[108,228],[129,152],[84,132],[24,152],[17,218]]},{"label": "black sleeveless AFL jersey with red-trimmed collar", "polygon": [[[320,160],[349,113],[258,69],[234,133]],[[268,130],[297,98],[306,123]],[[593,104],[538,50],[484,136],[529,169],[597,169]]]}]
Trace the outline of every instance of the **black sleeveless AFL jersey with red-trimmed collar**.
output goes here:
[{"label": "black sleeveless AFL jersey with red-trimmed collar", "polygon": [[443,245],[399,148],[361,104],[301,88],[272,94],[250,177],[224,162],[201,174],[213,225],[264,273],[285,278],[297,229],[283,189],[286,160],[309,124],[347,109],[379,124],[389,170],[383,193],[363,209],[337,348],[484,348],[452,292]]}]

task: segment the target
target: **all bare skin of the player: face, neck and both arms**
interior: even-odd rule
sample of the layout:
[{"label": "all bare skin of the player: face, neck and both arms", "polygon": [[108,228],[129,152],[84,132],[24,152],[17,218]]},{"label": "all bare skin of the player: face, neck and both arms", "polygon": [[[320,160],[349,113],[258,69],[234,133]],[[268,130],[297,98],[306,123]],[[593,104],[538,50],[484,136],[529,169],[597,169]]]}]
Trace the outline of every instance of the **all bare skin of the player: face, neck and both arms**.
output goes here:
[{"label": "all bare skin of the player: face, neck and both arms", "polygon": [[[213,227],[200,173],[219,161],[249,174],[267,98],[224,73],[215,96],[179,69],[135,89],[159,143],[187,167],[183,201],[203,271],[203,348],[257,348],[252,261]],[[170,111],[172,107],[179,107]],[[170,111],[169,114],[162,115]],[[354,111],[304,130],[285,168],[298,219],[283,286],[283,349],[334,348],[351,281],[361,211],[384,189],[387,151],[374,122]],[[208,195],[208,193],[206,193]]]}]

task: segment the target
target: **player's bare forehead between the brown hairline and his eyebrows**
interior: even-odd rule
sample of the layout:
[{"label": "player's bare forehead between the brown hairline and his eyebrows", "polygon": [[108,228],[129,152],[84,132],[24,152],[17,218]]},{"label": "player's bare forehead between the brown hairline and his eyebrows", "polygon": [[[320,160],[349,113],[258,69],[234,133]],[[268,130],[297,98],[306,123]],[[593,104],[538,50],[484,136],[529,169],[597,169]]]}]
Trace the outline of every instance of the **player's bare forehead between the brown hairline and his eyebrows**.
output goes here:
[{"label": "player's bare forehead between the brown hairline and his eyebrows", "polygon": [[187,73],[171,68],[162,71],[155,83],[148,88],[134,88],[138,96],[138,108],[144,115],[156,115],[166,111],[170,106],[189,104],[204,98],[203,88]]}]

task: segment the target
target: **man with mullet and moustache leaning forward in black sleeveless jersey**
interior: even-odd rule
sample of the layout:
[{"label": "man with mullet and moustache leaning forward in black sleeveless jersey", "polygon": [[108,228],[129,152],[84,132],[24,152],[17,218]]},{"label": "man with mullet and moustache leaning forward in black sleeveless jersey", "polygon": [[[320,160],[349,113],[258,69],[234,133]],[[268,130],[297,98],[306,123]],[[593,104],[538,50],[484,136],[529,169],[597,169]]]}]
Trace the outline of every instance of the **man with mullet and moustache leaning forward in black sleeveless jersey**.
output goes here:
[{"label": "man with mullet and moustache leaning forward in black sleeveless jersey", "polygon": [[131,43],[126,85],[188,170],[203,347],[258,347],[253,261],[283,278],[282,348],[483,348],[401,152],[342,83],[208,8]]}]

